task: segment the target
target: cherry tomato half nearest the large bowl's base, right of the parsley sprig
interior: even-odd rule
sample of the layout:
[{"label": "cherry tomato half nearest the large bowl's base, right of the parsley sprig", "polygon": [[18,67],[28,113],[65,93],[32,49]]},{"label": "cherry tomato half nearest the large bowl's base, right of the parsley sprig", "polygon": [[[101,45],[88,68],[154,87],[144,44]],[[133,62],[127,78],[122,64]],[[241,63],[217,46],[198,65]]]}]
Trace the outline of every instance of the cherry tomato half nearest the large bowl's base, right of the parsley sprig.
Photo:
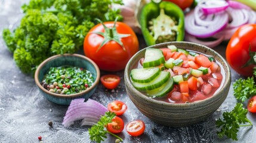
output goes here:
[{"label": "cherry tomato half nearest the large bowl's base, right of the parsley sprig", "polygon": [[144,132],[145,124],[141,120],[134,120],[127,124],[126,129],[129,135],[139,136]]}]

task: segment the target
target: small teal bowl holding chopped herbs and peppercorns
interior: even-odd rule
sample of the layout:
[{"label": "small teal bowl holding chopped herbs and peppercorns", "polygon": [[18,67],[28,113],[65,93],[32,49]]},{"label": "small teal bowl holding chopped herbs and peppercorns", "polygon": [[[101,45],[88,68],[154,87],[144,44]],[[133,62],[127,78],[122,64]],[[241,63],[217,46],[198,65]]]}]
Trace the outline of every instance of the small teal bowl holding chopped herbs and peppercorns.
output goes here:
[{"label": "small teal bowl holding chopped herbs and peppercorns", "polygon": [[[94,78],[94,83],[90,88],[77,94],[64,95],[50,92],[41,85],[42,79],[44,78],[45,74],[49,71],[50,67],[60,66],[76,66],[91,71],[91,74]],[[61,105],[69,105],[70,102],[76,98],[85,98],[85,100],[87,100],[95,92],[95,89],[97,88],[99,81],[100,70],[98,69],[97,64],[95,64],[94,61],[92,61],[90,58],[87,58],[84,55],[79,54],[54,55],[44,60],[38,66],[35,72],[35,82],[41,94],[44,95],[44,97],[47,98],[47,100]]]}]

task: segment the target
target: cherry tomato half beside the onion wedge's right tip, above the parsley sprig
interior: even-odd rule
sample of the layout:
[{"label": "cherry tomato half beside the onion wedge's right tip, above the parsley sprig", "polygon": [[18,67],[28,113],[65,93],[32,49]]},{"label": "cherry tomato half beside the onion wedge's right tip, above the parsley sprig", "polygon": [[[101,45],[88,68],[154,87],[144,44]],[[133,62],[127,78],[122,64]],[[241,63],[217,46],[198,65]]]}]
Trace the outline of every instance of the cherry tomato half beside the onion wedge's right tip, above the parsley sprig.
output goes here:
[{"label": "cherry tomato half beside the onion wedge's right tip, above the parsley sprig", "polygon": [[110,102],[107,105],[107,109],[111,112],[116,113],[116,116],[121,116],[127,110],[127,105],[122,101],[116,100],[116,101]]}]

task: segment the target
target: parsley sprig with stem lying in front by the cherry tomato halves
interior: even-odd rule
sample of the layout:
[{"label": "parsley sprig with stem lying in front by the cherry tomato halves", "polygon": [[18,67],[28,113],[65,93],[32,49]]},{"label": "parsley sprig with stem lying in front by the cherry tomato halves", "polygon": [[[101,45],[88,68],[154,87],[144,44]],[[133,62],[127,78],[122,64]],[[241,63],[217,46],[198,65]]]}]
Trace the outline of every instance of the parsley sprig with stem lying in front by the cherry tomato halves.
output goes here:
[{"label": "parsley sprig with stem lying in front by the cherry tomato halves", "polygon": [[97,143],[104,141],[104,138],[107,138],[106,136],[107,133],[120,139],[121,142],[123,141],[123,139],[120,138],[119,136],[109,132],[108,130],[105,130],[105,126],[107,126],[107,123],[111,123],[112,119],[115,116],[116,114],[110,111],[107,111],[104,114],[104,116],[101,116],[100,121],[98,121],[97,124],[93,125],[91,129],[89,129],[89,135],[90,135],[91,141],[95,141]]}]

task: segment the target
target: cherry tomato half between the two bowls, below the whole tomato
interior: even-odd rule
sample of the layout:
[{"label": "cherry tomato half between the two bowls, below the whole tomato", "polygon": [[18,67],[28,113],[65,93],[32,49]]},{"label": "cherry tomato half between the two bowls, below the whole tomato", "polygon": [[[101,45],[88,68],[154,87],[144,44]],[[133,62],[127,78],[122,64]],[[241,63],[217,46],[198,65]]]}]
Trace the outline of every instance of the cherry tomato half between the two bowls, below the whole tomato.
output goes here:
[{"label": "cherry tomato half between the two bowls, below the whole tomato", "polygon": [[100,77],[101,83],[107,89],[115,89],[120,83],[120,77],[115,74],[106,74]]}]

